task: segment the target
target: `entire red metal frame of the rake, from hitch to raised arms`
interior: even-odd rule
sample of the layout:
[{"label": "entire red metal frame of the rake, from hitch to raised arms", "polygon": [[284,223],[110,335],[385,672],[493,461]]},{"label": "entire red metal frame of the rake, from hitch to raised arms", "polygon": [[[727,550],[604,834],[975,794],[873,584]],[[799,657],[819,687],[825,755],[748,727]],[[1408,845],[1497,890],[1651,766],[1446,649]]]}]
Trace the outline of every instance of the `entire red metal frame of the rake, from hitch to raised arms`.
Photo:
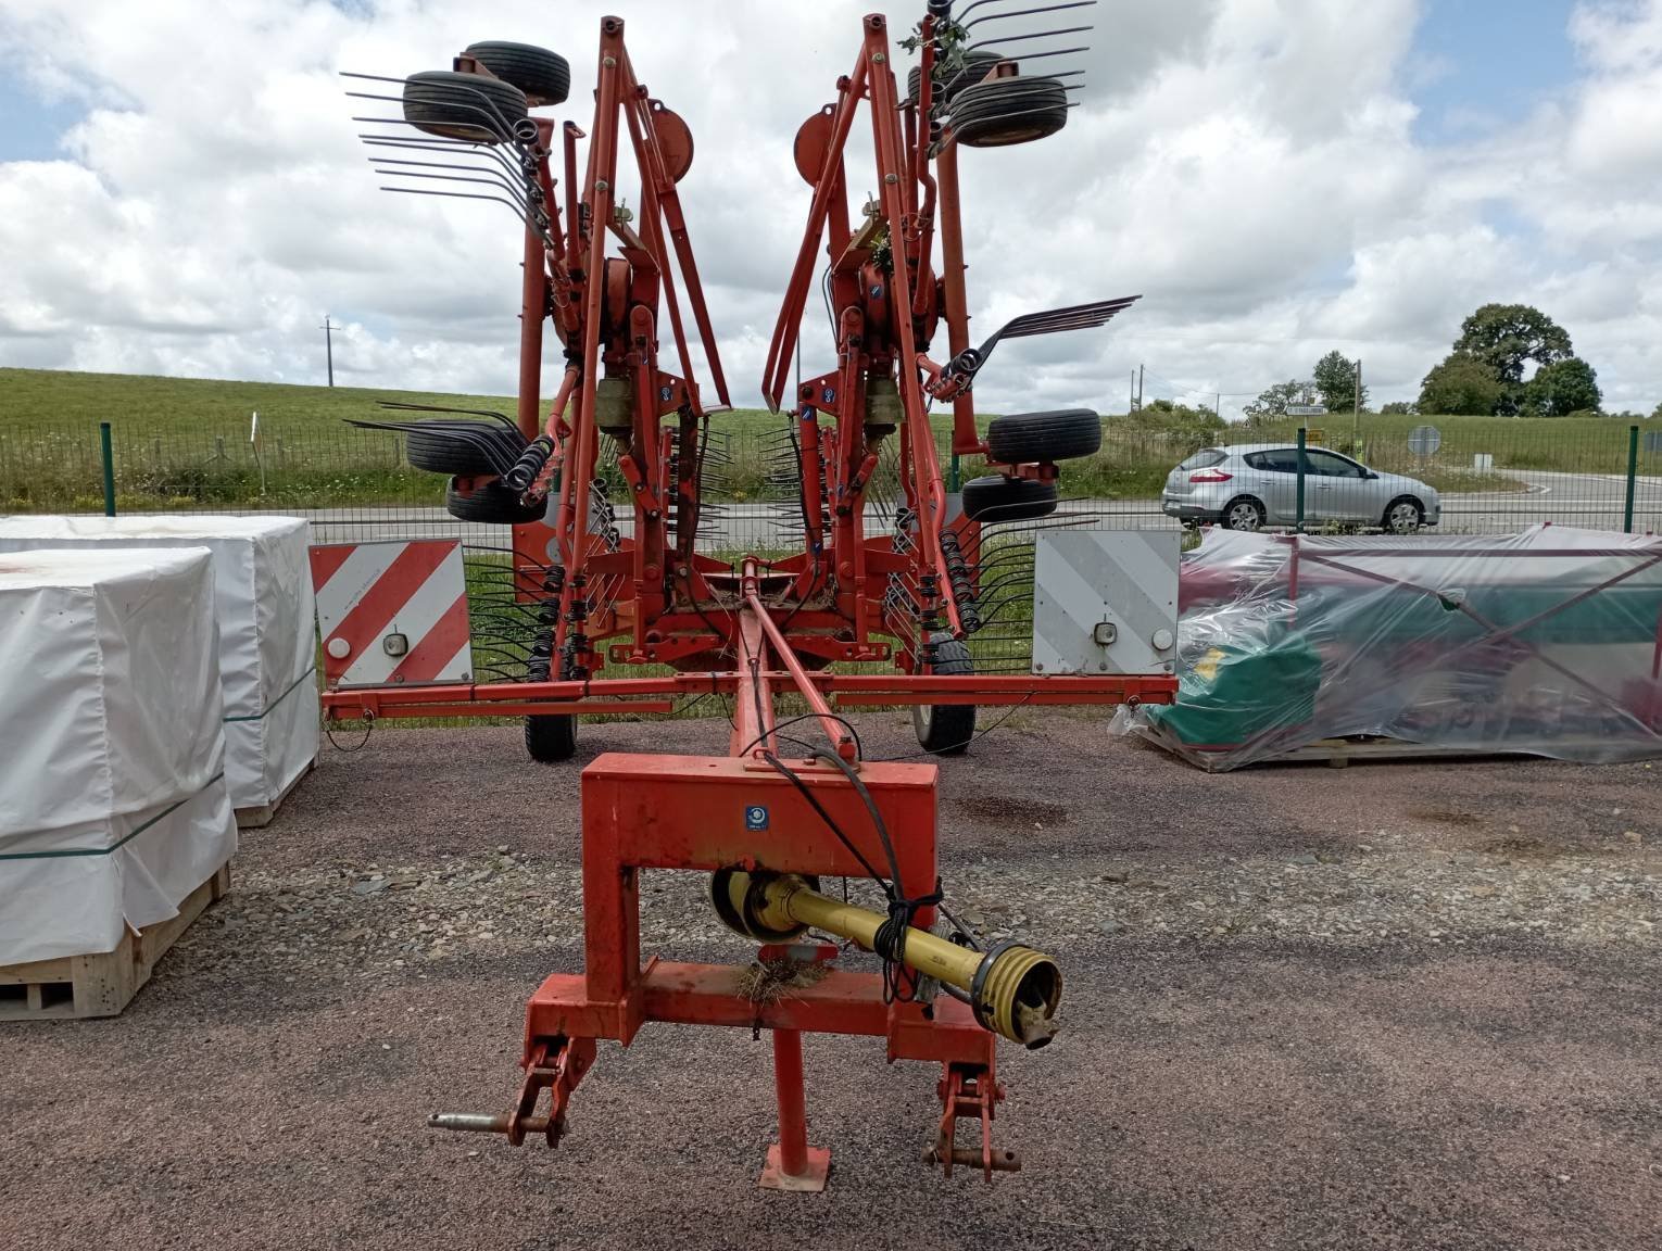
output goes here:
[{"label": "entire red metal frame of the rake, from hitch to raised arms", "polygon": [[[676,696],[718,693],[733,699],[733,736],[726,758],[605,754],[583,769],[583,972],[553,974],[532,995],[522,1055],[525,1080],[514,1111],[440,1116],[435,1123],[502,1131],[515,1143],[527,1133],[542,1133],[552,1145],[563,1133],[573,1092],[597,1058],[597,1040],[628,1045],[648,1022],[770,1028],[779,1143],[770,1151],[763,1185],[816,1190],[824,1185],[829,1156],[806,1141],[799,1035],[813,1030],[881,1037],[891,1060],[941,1063],[942,1118],[932,1158],[946,1170],[972,1163],[989,1178],[994,1170],[1015,1166],[1014,1153],[996,1153],[991,1141],[992,1111],[1004,1095],[994,1072],[994,1035],[957,998],[891,1002],[879,974],[833,969],[811,985],[758,1002],[741,989],[745,967],[656,957],[643,964],[640,950],[645,869],[741,867],[861,877],[868,864],[888,864],[889,849],[843,769],[816,759],[798,761],[788,751],[794,741],[778,733],[776,686],[806,701],[811,711],[804,723],[816,723],[836,759],[859,771],[894,834],[897,881],[891,886],[907,900],[927,897],[937,886],[936,768],[858,761],[854,738],[834,708],[1167,703],[1177,689],[1167,675],[1035,678],[929,671],[931,638],[937,631],[954,638],[966,633],[964,605],[946,576],[947,552],[979,543],[979,530],[947,515],[926,410],[926,377],[931,394],[954,404],[954,449],[986,450],[967,395],[949,394],[941,367],[926,356],[939,304],[946,306],[954,351],[967,344],[957,173],[951,145],[939,158],[931,155],[932,23],[934,18],[926,18],[922,25],[921,101],[902,108],[888,23],[871,15],[863,22],[854,71],[839,81],[838,101],[821,115],[826,133],[824,148],[816,153],[814,203],[770,351],[766,392],[776,409],[814,253],[828,238],[833,299],[843,311],[841,365],[803,385],[793,420],[806,449],[799,462],[804,498],[821,500],[823,493],[831,502],[831,525],[821,527],[818,507],[806,508],[806,547],[788,560],[765,563],[746,557],[735,567],[695,550],[700,510],[695,449],[710,410],[693,380],[676,271],[721,405],[728,395],[675,188],[685,159],[678,168],[671,156],[680,150],[690,156],[690,140],[678,118],[640,85],[618,18],[602,22],[597,103],[580,198],[577,141],[585,135],[572,125],[563,128],[563,216],[548,168],[553,126],[538,123],[537,168],[552,243],[545,244],[538,233],[527,234],[519,419],[527,437],[542,434],[552,444],[548,465],[527,498],[552,498],[555,522],[517,527],[514,547],[519,593],[552,610],[558,668],[545,681],[327,691],[324,708],[331,718],[665,713]],[[843,148],[864,101],[871,103],[883,191],[878,216],[853,231]],[[618,148],[625,135],[642,173],[638,228],[617,213]],[[931,171],[936,164],[939,174]],[[939,284],[931,261],[937,209],[946,258]],[[873,261],[884,231],[892,254],[889,269]],[[612,239],[617,256],[608,256]],[[668,316],[680,374],[660,364],[660,307]],[[538,422],[545,316],[555,322],[568,364],[552,409]],[[603,380],[620,384],[633,400],[620,469],[630,487],[635,530],[623,542],[592,535],[588,527]],[[866,430],[868,385],[876,380],[892,380],[901,397],[902,487],[917,530],[899,545],[864,528],[866,488],[878,464],[878,440],[886,437]],[[665,419],[671,414],[675,425],[668,429]],[[833,429],[819,427],[821,414],[834,419]],[[671,450],[678,452],[673,475]],[[1022,465],[1010,472],[1047,475],[1054,467]],[[957,543],[944,542],[949,535]],[[914,588],[909,613],[892,603],[896,580]],[[602,648],[607,640],[620,641]],[[666,665],[676,671],[656,678],[597,678],[608,660]],[[892,660],[899,671],[851,675],[824,668],[881,660]],[[796,779],[854,851],[798,784],[774,768],[786,756]],[[916,910],[914,924],[927,927],[932,920],[932,907]],[[809,949],[813,960],[834,954],[834,949]],[[793,949],[793,955],[799,952]],[[956,1146],[956,1123],[966,1116],[981,1123],[979,1148]]]}]

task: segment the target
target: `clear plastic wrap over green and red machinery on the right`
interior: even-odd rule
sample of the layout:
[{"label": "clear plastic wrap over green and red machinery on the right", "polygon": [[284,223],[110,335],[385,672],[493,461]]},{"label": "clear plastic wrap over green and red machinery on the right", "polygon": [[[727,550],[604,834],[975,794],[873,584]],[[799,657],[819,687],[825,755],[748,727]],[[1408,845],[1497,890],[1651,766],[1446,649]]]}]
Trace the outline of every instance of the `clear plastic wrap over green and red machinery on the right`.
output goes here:
[{"label": "clear plastic wrap over green and red machinery on the right", "polygon": [[1212,530],[1180,573],[1168,708],[1122,711],[1207,769],[1321,739],[1609,763],[1662,756],[1662,538]]}]

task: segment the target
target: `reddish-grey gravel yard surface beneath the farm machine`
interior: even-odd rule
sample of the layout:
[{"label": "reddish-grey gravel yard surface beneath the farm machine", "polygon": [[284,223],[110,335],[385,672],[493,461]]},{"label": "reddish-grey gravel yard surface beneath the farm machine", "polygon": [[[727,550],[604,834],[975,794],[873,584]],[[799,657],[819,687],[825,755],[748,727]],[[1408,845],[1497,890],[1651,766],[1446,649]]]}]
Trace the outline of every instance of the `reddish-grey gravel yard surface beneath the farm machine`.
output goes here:
[{"label": "reddish-grey gravel yard surface beneath the farm machine", "polygon": [[[725,739],[585,726],[582,754]],[[381,731],[244,834],[123,1017],[5,1032],[0,1248],[1650,1249],[1659,773],[1207,776],[1020,714],[941,796],[949,895],[1067,975],[1057,1045],[1001,1053],[1025,1168],[944,1181],[936,1073],[814,1037],[833,1183],[783,1196],[743,1030],[603,1043],[553,1153],[424,1128],[507,1108],[525,997],[580,967],[577,769],[512,729]],[[746,959],[701,886],[647,877],[643,945]]]}]

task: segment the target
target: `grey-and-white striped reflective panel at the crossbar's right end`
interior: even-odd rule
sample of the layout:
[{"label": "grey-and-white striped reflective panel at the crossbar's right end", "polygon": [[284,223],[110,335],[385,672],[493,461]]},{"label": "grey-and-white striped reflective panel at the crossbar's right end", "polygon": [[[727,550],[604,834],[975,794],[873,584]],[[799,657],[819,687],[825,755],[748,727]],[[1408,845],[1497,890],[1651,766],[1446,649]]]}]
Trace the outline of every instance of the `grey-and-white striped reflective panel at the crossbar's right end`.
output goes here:
[{"label": "grey-and-white striped reflective panel at the crossbar's right end", "polygon": [[1177,530],[1039,533],[1034,673],[1172,673]]}]

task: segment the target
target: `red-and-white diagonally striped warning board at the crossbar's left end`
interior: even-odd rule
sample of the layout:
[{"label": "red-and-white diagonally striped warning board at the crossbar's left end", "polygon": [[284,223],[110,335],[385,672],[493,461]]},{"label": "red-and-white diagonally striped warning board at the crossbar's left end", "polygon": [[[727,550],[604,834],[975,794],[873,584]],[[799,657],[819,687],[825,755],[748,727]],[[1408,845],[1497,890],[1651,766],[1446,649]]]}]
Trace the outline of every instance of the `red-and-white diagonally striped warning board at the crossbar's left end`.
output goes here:
[{"label": "red-and-white diagonally striped warning board at the crossbar's left end", "polygon": [[319,543],[311,565],[329,686],[472,679],[460,540]]}]

